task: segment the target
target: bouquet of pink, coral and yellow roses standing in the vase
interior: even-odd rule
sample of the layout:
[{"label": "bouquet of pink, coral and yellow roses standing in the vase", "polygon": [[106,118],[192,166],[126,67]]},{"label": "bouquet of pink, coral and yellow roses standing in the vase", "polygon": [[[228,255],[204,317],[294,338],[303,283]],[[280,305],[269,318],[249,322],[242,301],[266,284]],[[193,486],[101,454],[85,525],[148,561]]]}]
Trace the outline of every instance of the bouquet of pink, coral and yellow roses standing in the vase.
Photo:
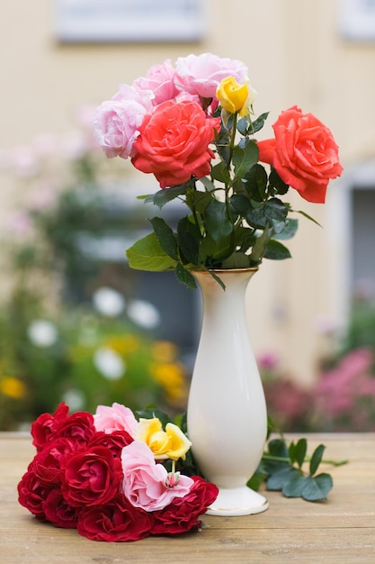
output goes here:
[{"label": "bouquet of pink, coral and yellow roses standing in the vase", "polygon": [[175,231],[161,217],[151,220],[154,231],[127,252],[130,267],[175,269],[195,287],[196,269],[290,257],[281,241],[298,222],[281,196],[292,187],[324,203],[343,168],[332,132],[297,106],[281,113],[272,139],[257,141],[268,114],[254,119],[255,96],[243,62],[204,53],[175,66],[165,60],[97,108],[95,137],[106,156],[130,158],[159,182],[146,201],[162,208],[179,199],[187,208]]}]

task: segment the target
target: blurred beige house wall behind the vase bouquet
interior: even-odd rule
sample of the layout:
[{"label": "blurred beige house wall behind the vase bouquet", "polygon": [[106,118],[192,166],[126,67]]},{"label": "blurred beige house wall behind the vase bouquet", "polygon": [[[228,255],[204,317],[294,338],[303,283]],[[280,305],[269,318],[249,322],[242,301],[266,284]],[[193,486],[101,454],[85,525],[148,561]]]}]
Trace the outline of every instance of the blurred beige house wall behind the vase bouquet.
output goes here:
[{"label": "blurred beige house wall behind the vase bouquet", "polygon": [[[207,0],[207,33],[197,44],[58,45],[53,2],[13,0],[2,9],[0,149],[27,144],[42,132],[66,132],[81,105],[96,105],[166,58],[206,50],[242,59],[258,91],[256,113],[297,104],[335,133],[351,168],[374,153],[375,44],[346,42],[338,31],[339,1]],[[311,380],[319,348],[317,316],[343,316],[340,276],[346,259],[332,225],[332,183],[326,206],[294,198],[325,228],[301,222],[293,259],[267,263],[251,283],[249,309],[257,351],[276,350],[291,373]],[[12,188],[2,182],[3,216]]]}]

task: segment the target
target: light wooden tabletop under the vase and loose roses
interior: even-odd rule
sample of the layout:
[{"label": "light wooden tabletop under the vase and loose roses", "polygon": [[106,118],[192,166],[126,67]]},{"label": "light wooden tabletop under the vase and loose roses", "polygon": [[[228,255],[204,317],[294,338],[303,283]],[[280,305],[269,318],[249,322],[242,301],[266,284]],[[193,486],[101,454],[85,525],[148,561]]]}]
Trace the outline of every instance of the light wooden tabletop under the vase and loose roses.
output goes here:
[{"label": "light wooden tabletop under the vase and loose roses", "polygon": [[334,478],[326,502],[266,492],[270,508],[246,517],[203,516],[202,532],[136,542],[96,542],[75,530],[39,523],[17,502],[17,484],[34,455],[25,433],[0,432],[0,562],[375,562],[375,433],[304,435],[308,452],[320,442]]}]

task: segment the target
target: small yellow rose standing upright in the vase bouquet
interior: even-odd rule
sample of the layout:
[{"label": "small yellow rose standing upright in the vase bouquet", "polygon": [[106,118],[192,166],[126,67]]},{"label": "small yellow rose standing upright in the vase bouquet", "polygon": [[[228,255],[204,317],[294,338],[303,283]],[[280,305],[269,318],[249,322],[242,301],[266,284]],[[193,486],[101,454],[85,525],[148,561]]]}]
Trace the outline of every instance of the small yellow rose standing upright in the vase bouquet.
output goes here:
[{"label": "small yellow rose standing upright in the vase bouquet", "polygon": [[237,112],[243,116],[248,114],[249,107],[253,105],[256,97],[255,90],[249,82],[239,84],[234,77],[223,78],[216,91],[221,107],[228,114]]}]

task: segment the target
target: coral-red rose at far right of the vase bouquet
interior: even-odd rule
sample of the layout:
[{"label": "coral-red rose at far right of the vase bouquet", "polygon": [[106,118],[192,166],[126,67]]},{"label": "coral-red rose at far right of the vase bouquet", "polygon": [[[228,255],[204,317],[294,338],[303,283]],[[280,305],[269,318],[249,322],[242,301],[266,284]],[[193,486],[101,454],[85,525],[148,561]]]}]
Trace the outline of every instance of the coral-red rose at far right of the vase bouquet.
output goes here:
[{"label": "coral-red rose at far right of the vase bouquet", "polygon": [[332,132],[296,105],[281,112],[272,127],[274,139],[257,141],[259,160],[272,165],[305,200],[323,204],[329,180],[343,171]]}]

